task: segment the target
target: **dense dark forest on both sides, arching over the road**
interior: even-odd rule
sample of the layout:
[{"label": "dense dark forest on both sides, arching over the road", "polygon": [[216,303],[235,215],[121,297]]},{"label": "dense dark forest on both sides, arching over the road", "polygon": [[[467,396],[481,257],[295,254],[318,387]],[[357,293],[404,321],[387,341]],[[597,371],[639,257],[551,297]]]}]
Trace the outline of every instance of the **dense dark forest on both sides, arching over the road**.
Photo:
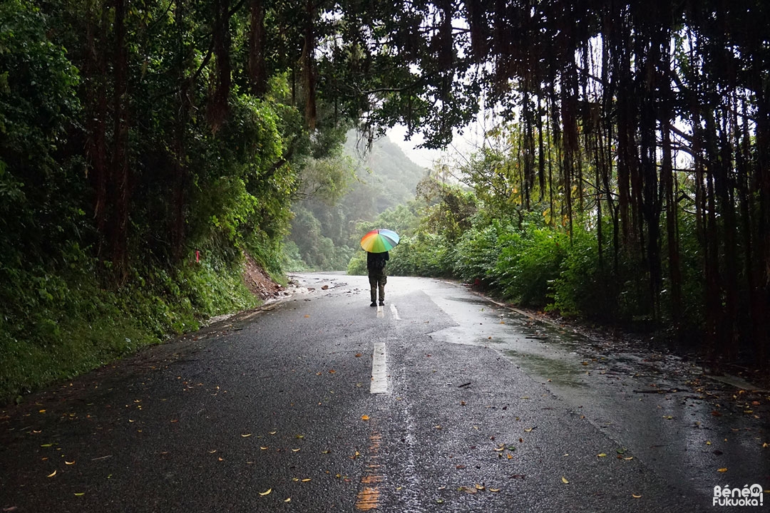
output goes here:
[{"label": "dense dark forest on both sides, arching over the road", "polygon": [[350,128],[440,148],[480,108],[494,144],[456,171],[474,192],[423,182],[405,254],[504,285],[541,248],[555,308],[766,363],[768,9],[5,0],[0,388],[248,304],[244,252],[280,274],[291,205],[349,180]]}]

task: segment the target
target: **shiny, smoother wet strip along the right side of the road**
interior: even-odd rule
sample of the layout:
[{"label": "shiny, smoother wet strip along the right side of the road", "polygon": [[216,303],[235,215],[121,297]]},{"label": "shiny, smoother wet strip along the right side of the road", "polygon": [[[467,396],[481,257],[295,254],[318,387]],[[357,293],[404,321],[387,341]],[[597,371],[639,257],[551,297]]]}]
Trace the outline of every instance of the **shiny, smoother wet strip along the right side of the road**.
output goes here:
[{"label": "shiny, smoother wet strip along the right side of the road", "polygon": [[588,338],[457,286],[424,291],[457,323],[435,340],[500,351],[618,442],[598,451],[640,458],[705,500],[722,481],[768,481],[770,392],[726,385],[676,355]]}]

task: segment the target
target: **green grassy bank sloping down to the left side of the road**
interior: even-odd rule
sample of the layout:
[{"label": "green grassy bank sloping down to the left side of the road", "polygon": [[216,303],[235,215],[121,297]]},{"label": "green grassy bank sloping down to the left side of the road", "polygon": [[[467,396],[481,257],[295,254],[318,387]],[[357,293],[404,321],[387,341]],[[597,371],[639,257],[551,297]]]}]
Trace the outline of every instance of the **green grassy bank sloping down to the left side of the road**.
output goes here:
[{"label": "green grassy bank sloping down to the left side of the road", "polygon": [[[206,261],[137,272],[111,290],[94,273],[17,276],[12,304],[0,306],[0,405],[257,305],[242,274],[241,263]],[[23,286],[43,281],[55,290]]]}]

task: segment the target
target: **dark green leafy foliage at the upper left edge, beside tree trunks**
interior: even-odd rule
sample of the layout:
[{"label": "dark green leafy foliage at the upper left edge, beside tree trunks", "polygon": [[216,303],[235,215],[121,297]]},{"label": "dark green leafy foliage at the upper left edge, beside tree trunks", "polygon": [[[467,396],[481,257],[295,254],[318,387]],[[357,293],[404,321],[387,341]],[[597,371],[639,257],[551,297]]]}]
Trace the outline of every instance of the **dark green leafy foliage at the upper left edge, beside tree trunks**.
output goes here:
[{"label": "dark green leafy foliage at the upper left edge, beside tree trunks", "polygon": [[78,70],[29,2],[0,3],[0,282],[50,261],[85,230],[79,158],[60,158],[78,122]]}]

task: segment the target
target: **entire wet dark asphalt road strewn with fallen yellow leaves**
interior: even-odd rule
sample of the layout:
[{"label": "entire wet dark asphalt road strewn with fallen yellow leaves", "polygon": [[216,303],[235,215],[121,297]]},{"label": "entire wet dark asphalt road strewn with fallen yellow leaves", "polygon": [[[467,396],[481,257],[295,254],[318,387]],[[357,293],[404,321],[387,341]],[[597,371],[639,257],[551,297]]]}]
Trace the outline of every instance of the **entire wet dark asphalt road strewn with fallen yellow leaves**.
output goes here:
[{"label": "entire wet dark asphalt road strewn with fallen yellow leaves", "polygon": [[370,308],[366,278],[298,278],[2,408],[0,511],[770,508],[711,505],[715,485],[770,489],[770,392],[444,281],[389,278]]}]

